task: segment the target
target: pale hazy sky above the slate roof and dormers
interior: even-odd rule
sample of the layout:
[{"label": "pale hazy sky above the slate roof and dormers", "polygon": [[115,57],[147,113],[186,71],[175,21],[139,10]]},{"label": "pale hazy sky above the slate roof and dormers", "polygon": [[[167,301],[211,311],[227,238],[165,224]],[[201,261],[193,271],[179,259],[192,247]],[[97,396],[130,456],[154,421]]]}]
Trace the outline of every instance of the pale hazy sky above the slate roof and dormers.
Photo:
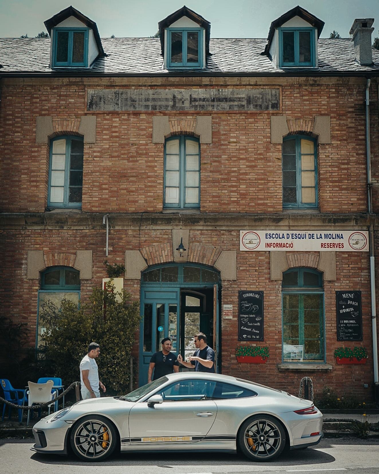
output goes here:
[{"label": "pale hazy sky above the slate roof and dormers", "polygon": [[97,23],[101,37],[153,36],[158,21],[184,4],[211,23],[211,37],[266,38],[271,21],[300,5],[325,21],[321,37],[349,37],[354,18],[375,18],[379,0],[0,0],[0,37],[36,36],[44,21],[70,4]]}]

